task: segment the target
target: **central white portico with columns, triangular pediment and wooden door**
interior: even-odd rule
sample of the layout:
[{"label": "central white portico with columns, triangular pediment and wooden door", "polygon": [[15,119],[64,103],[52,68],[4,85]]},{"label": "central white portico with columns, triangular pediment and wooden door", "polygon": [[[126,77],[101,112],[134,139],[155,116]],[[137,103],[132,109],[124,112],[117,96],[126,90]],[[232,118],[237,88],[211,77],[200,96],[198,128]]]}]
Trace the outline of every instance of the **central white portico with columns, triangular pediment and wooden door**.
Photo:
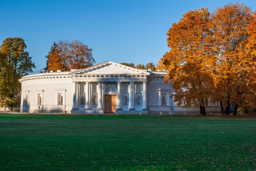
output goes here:
[{"label": "central white portico with columns, triangular pediment and wooden door", "polygon": [[101,64],[71,73],[72,113],[148,113],[150,73],[111,61]]}]

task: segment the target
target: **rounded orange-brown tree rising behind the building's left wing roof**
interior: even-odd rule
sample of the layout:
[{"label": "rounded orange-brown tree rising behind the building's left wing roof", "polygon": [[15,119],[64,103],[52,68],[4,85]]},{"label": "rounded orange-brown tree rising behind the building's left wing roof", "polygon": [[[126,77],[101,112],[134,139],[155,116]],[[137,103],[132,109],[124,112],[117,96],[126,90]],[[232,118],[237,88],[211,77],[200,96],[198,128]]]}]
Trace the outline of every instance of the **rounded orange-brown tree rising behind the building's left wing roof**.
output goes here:
[{"label": "rounded orange-brown tree rising behind the building's left wing roof", "polygon": [[58,41],[48,54],[48,70],[70,71],[93,66],[92,49],[81,41]]}]

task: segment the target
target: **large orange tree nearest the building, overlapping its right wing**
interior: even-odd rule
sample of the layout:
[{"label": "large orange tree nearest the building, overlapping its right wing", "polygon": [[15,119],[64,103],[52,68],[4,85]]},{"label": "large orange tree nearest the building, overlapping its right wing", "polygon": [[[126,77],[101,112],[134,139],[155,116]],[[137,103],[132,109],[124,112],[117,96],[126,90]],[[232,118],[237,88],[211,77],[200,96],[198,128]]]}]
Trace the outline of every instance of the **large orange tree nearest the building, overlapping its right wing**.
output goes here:
[{"label": "large orange tree nearest the building, overlapping its right wing", "polygon": [[196,9],[183,15],[167,33],[170,51],[158,66],[168,69],[165,81],[171,81],[178,105],[200,106],[203,115],[212,88],[212,78],[205,63],[211,52],[206,44],[210,35],[209,22],[208,9]]}]

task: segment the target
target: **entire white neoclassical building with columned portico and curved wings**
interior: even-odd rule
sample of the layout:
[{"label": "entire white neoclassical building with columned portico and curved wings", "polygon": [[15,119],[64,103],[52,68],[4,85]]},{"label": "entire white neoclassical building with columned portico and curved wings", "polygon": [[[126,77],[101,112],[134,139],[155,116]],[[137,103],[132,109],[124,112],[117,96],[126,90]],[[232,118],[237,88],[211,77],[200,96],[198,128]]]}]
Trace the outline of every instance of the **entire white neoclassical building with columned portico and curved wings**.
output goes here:
[{"label": "entire white neoclassical building with columned portico and curved wings", "polygon": [[[24,113],[199,113],[173,103],[166,71],[145,71],[106,61],[67,72],[51,71],[22,77]],[[218,112],[217,104],[208,111]]]}]

